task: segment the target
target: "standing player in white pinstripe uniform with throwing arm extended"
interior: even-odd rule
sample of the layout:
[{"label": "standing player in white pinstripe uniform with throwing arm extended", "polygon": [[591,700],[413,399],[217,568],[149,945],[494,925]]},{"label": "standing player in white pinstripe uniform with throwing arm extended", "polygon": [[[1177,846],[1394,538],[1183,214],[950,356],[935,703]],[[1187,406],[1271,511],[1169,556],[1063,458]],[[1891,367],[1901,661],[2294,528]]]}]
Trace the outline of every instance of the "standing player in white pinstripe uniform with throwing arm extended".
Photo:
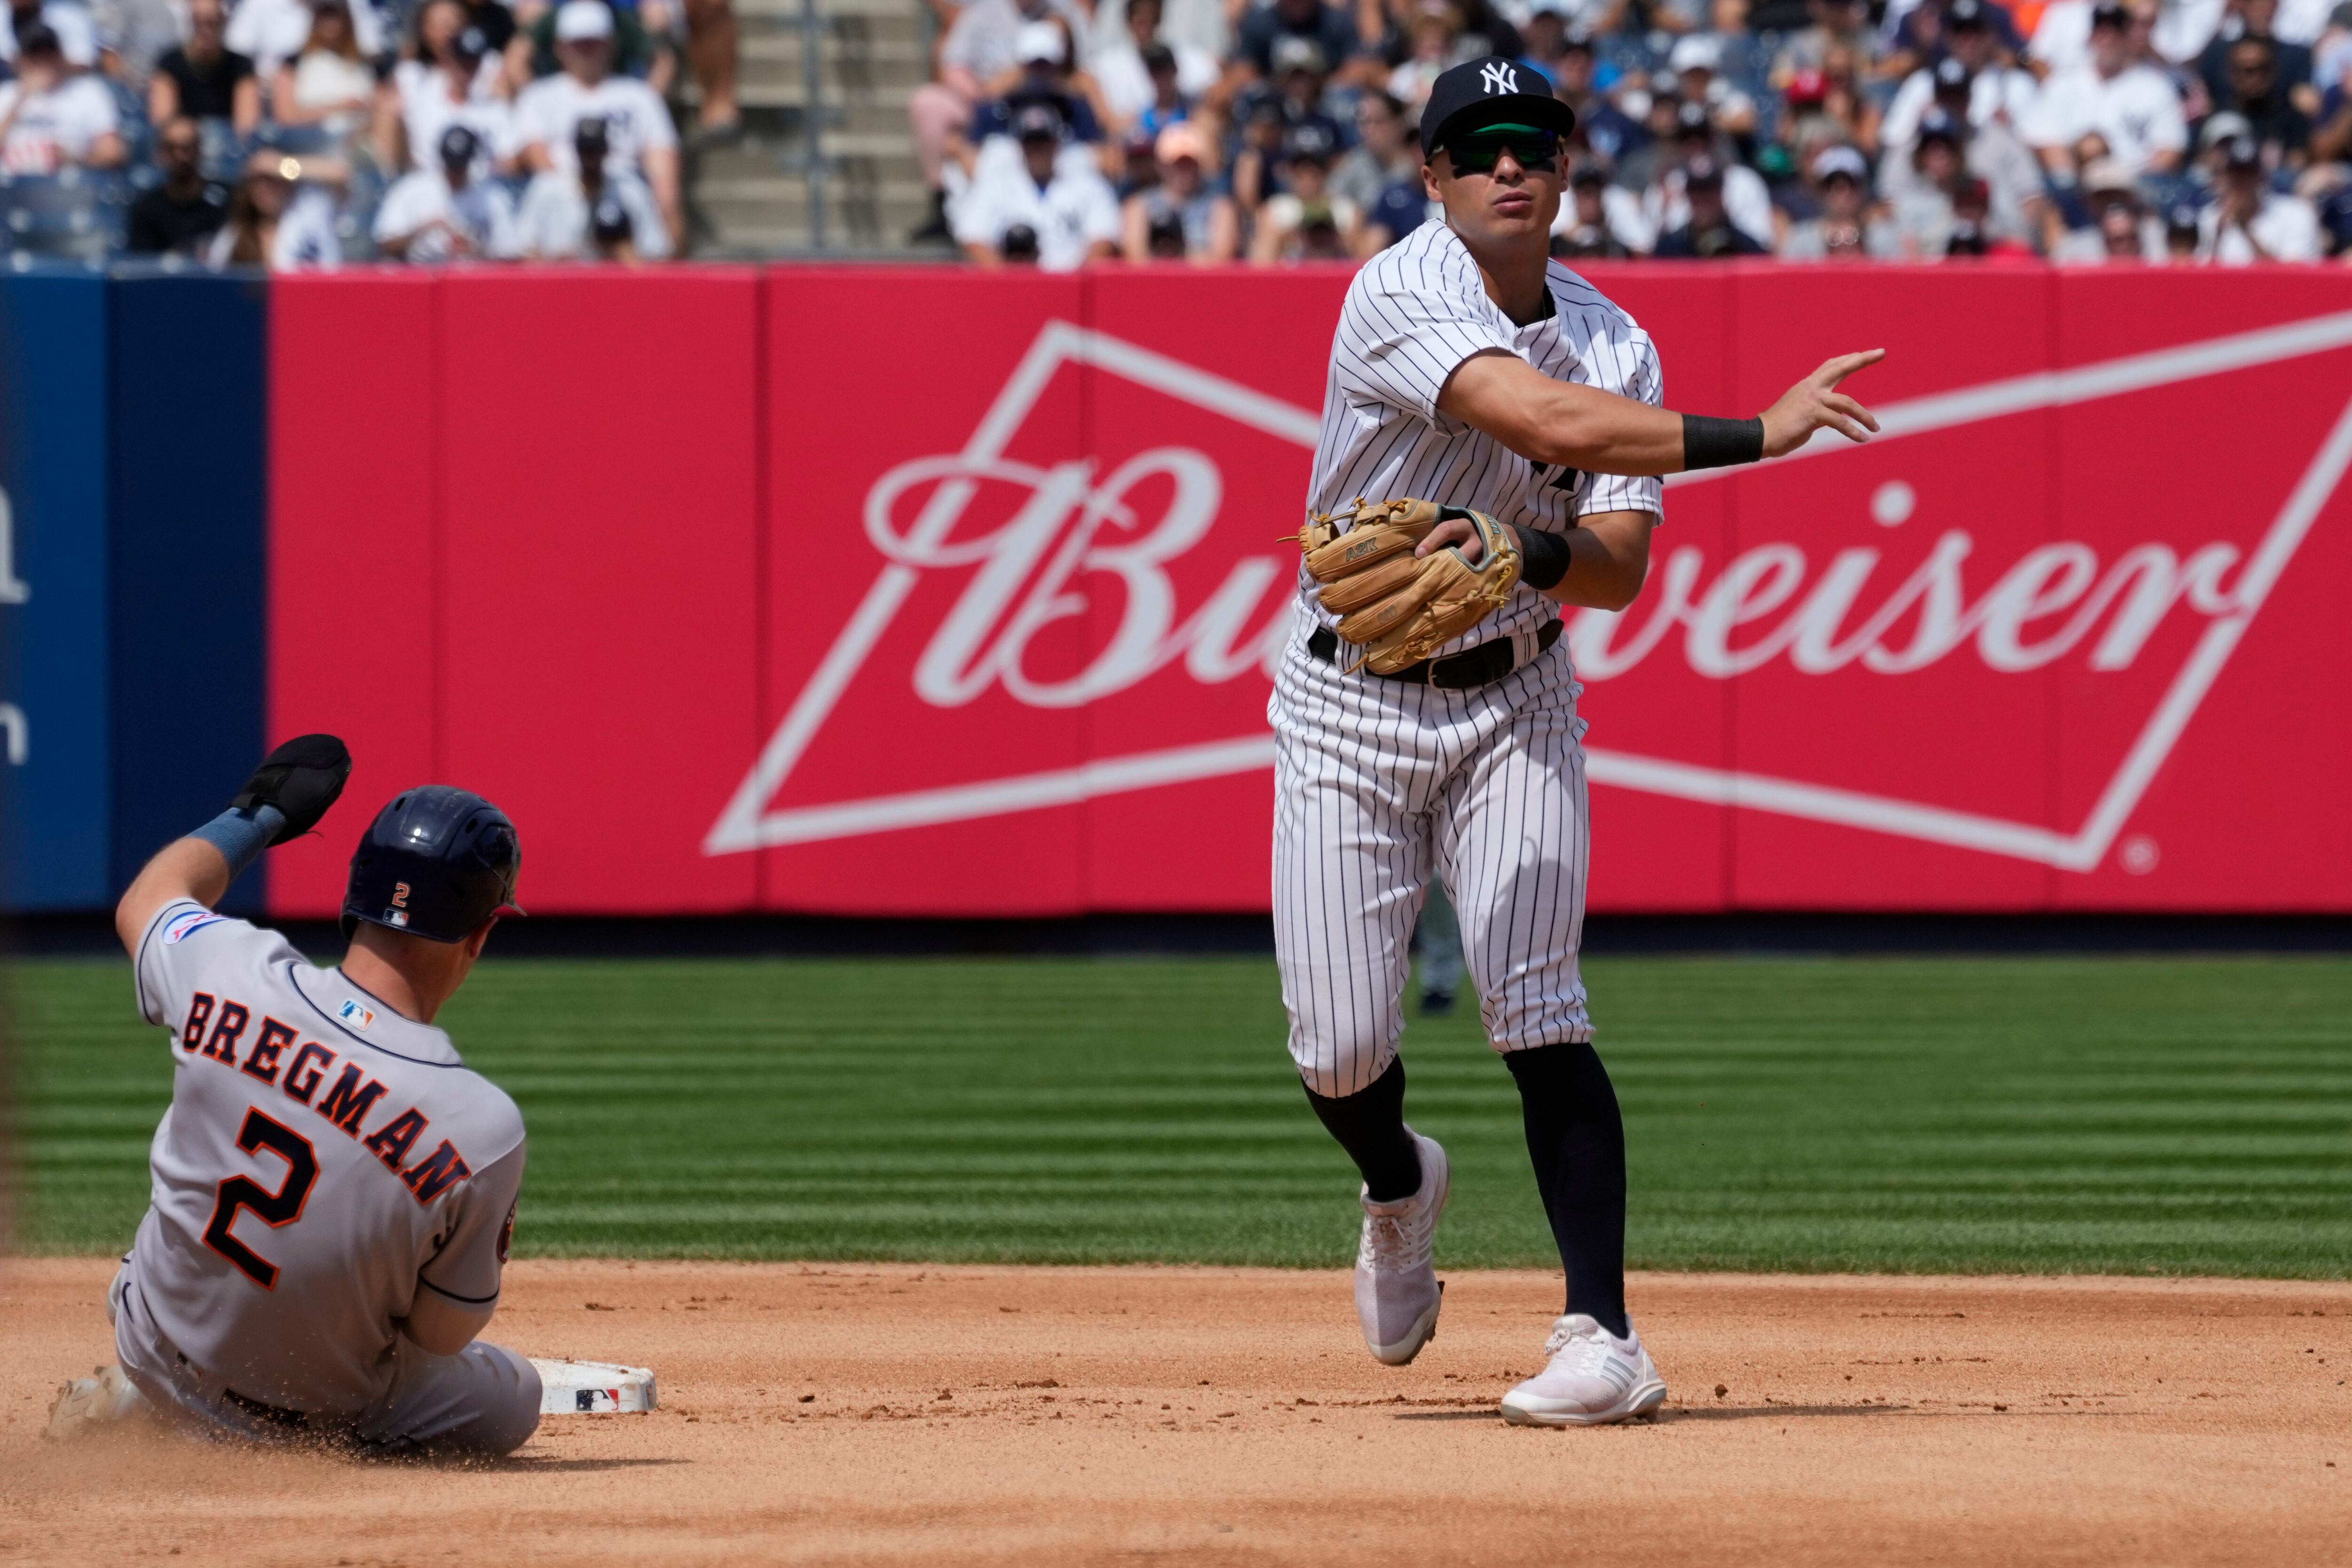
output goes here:
[{"label": "standing player in white pinstripe uniform with throwing arm extended", "polygon": [[[1421,148],[1446,221],[1383,252],[1348,289],[1308,496],[1324,515],[1359,496],[1484,512],[1519,552],[1517,581],[1465,635],[1381,675],[1301,576],[1310,614],[1268,708],[1282,997],[1308,1100],[1364,1175],[1364,1342],[1381,1361],[1411,1361],[1442,1302],[1432,1239],[1446,1157],[1404,1124],[1397,1058],[1406,943],[1435,870],[1461,914],[1486,1034],[1519,1086],[1566,1269],[1548,1366],[1503,1396],[1508,1420],[1534,1425],[1613,1422],[1665,1399],[1625,1316],[1625,1133],[1576,973],[1585,724],[1559,604],[1635,599],[1661,475],[1780,456],[1818,428],[1867,440],[1877,421],[1837,383],[1879,360],[1830,360],[1759,418],[1663,409],[1649,336],[1548,254],[1573,122],[1517,61],[1437,78]],[[1479,538],[1446,517],[1414,555],[1451,548],[1477,562]]]}]

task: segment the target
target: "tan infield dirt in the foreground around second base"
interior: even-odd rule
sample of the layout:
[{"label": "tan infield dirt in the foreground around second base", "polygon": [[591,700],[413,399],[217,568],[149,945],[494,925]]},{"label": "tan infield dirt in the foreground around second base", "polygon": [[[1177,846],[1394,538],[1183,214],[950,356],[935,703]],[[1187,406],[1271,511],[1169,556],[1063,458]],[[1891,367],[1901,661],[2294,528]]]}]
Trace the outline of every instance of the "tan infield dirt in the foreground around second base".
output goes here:
[{"label": "tan infield dirt in the foreground around second base", "polygon": [[111,1265],[0,1269],[12,1563],[2352,1561],[2352,1286],[1644,1274],[1663,1418],[1550,1432],[1541,1274],[1383,1368],[1343,1274],[517,1262],[492,1338],[661,1410],[426,1467],[49,1446]]}]

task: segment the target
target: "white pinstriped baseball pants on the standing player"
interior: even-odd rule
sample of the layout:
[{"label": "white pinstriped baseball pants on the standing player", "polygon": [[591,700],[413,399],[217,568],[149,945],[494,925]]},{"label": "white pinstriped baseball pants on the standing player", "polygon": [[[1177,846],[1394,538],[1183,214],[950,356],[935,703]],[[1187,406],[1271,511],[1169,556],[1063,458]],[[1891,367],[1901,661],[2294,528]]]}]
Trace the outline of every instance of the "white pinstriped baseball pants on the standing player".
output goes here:
[{"label": "white pinstriped baseball pants on the standing player", "polygon": [[1308,1088],[1350,1095],[1395,1060],[1432,867],[1494,1048],[1592,1037],[1578,693],[1564,642],[1477,691],[1341,675],[1291,642],[1268,703],[1275,957]]}]

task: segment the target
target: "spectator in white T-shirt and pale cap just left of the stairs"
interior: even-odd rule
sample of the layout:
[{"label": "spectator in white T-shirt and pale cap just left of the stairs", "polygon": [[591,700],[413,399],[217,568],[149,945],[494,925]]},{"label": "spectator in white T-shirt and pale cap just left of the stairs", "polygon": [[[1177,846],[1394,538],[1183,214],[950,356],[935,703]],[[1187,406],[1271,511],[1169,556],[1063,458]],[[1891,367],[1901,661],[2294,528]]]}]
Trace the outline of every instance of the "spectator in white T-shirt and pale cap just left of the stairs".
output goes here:
[{"label": "spectator in white T-shirt and pale cap just left of the stairs", "polygon": [[[661,209],[661,252],[677,249],[687,233],[677,193],[677,127],[652,87],[612,75],[612,12],[604,0],[564,0],[555,12],[557,75],[546,75],[515,99],[515,139],[532,174],[567,169],[581,120],[602,120],[612,148],[609,174],[640,174]],[[569,172],[569,169],[567,169]],[[647,252],[652,235],[637,235]]]}]

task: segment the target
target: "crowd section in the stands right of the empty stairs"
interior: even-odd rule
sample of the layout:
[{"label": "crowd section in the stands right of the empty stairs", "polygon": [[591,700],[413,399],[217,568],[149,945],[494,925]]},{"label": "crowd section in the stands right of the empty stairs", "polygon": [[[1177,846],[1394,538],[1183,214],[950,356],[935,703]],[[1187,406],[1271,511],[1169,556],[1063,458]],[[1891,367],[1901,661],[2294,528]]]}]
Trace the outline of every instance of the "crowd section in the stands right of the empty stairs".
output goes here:
[{"label": "crowd section in the stands right of the empty stairs", "polygon": [[1369,256],[1501,54],[1576,108],[1559,256],[2326,261],[2352,2],[931,0],[927,242],[978,266]]}]

